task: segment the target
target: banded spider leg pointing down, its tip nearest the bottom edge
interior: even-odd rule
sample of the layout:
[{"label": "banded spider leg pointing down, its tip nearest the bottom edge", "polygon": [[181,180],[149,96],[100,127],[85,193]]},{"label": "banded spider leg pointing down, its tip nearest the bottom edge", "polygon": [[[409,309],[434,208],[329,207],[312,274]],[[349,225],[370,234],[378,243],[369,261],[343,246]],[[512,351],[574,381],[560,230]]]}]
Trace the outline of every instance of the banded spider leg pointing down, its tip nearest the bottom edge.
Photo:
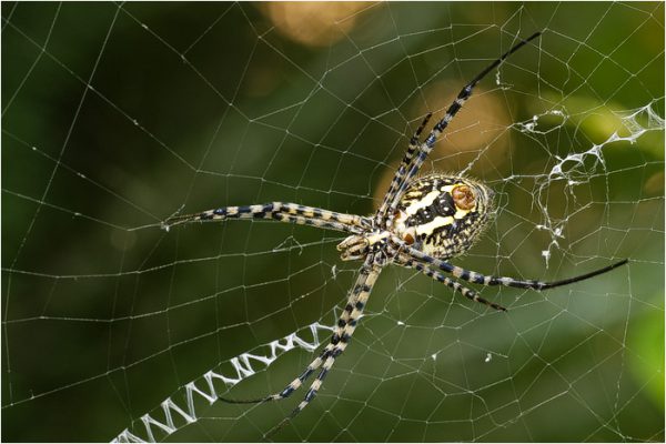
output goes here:
[{"label": "banded spider leg pointing down, its tip nearest the bottom edge", "polygon": [[314,400],[324,382],[324,379],[329,374],[329,371],[335,363],[335,360],[344,352],[349,341],[354,334],[354,331],[356,330],[356,323],[363,315],[363,310],[365,309],[365,304],[367,303],[372,287],[380,275],[380,271],[381,266],[376,264],[375,258],[372,254],[369,255],[361,268],[356,283],[350,292],[347,304],[337,321],[337,329],[331,337],[331,343],[326,346],[327,349],[330,347],[330,352],[321,365],[322,369],[320,373],[310,385],[310,389],[305,393],[303,401],[301,401],[301,403],[291,412],[287,417],[282,420],[280,424],[269,431],[269,433],[264,435],[264,438],[272,436],[289,421],[293,420],[299,413],[301,413],[303,408],[305,408],[307,404],[312,402],[312,400]]}]

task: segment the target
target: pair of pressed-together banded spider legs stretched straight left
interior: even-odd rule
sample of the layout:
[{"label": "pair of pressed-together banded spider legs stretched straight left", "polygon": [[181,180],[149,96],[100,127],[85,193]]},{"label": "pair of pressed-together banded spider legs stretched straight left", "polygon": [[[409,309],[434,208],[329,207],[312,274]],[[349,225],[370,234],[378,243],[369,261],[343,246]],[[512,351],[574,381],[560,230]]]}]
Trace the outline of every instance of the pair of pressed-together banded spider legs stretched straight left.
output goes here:
[{"label": "pair of pressed-together banded spider legs stretched straight left", "polygon": [[167,226],[172,226],[196,221],[203,222],[228,219],[269,219],[355,234],[363,233],[364,229],[372,224],[372,221],[369,218],[285,202],[271,202],[245,206],[223,206],[195,214],[178,215],[167,220],[165,224]]}]

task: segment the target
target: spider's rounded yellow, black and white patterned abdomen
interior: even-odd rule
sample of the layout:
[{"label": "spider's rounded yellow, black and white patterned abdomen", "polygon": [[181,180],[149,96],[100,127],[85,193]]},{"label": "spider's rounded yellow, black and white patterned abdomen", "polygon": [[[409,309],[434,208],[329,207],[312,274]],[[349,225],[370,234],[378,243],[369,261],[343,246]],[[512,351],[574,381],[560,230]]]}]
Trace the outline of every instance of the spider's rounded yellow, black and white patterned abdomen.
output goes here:
[{"label": "spider's rounded yellow, black and white patterned abdomen", "polygon": [[465,253],[494,212],[493,192],[468,178],[430,174],[413,181],[396,208],[395,233],[438,259]]}]

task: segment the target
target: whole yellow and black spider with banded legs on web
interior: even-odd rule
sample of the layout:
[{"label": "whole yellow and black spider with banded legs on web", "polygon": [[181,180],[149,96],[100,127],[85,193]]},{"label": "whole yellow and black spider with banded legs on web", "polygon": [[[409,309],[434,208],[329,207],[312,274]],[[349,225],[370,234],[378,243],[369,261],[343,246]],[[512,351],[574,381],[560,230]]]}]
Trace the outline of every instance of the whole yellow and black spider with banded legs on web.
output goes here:
[{"label": "whole yellow and black spider with banded legs on web", "polygon": [[264,437],[291,421],[315,397],[335,360],[349,345],[372,287],[382,269],[389,264],[417,270],[472,301],[495,310],[506,311],[505,307],[481,297],[476,291],[461,284],[460,281],[484,286],[505,285],[541,291],[579,282],[627,263],[625,259],[603,269],[555,282],[484,275],[448,263],[448,260],[470,250],[483,233],[486,223],[494,214],[493,191],[483,183],[462,175],[435,173],[416,178],[416,174],[442,132],[472,95],[474,87],[508,56],[538,36],[541,32],[522,40],[468,82],[450,105],[444,118],[422,141],[421,133],[427,125],[432,113],[425,117],[410,140],[405,155],[395,171],[382,204],[372,216],[337,213],[295,203],[272,202],[219,208],[198,214],[174,216],[167,221],[168,225],[173,225],[194,221],[270,219],[342,231],[350,235],[337,245],[341,259],[343,261],[363,261],[330,343],[295,380],[281,392],[256,400],[221,398],[224,402],[236,404],[284,400],[299,390],[314,372],[319,371],[303,401]]}]

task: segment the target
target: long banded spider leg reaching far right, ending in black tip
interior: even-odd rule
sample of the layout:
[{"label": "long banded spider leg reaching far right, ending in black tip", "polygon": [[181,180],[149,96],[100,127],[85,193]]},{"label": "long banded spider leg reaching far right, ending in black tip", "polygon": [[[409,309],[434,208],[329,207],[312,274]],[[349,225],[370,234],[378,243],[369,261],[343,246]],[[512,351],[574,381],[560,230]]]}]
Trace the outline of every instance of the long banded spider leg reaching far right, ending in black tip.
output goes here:
[{"label": "long banded spider leg reaching far right, ending in black tip", "polygon": [[485,285],[485,286],[504,285],[504,286],[513,286],[516,289],[532,289],[532,290],[547,290],[547,289],[554,289],[556,286],[573,284],[574,282],[584,281],[586,279],[594,278],[599,274],[609,272],[610,270],[622,266],[629,261],[628,259],[623,259],[622,261],[616,262],[612,265],[604,266],[603,269],[598,269],[598,270],[592,271],[589,273],[581,274],[578,276],[563,279],[563,280],[553,281],[553,282],[542,282],[542,281],[535,281],[535,280],[522,281],[522,280],[517,280],[517,279],[513,279],[513,278],[484,275],[481,273],[476,273],[474,271],[468,271],[463,268],[452,265],[446,261],[442,261],[441,259],[432,258],[432,256],[423,253],[422,251],[418,251],[408,245],[403,245],[402,249],[406,254],[408,254],[412,259],[416,260],[417,262],[428,264],[428,266],[432,265],[432,266],[440,269],[446,273],[451,273],[451,274],[453,274],[454,278],[457,278],[462,281],[472,282],[472,283],[481,284],[481,285]]}]

